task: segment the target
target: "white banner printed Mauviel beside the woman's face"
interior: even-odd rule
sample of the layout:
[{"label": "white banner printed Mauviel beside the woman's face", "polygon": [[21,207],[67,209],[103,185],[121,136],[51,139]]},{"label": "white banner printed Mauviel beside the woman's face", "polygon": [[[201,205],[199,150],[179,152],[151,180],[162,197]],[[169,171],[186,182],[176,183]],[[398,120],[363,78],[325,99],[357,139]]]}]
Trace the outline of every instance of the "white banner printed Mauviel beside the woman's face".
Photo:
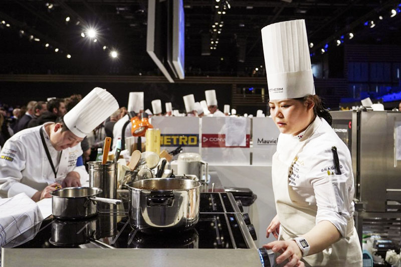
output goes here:
[{"label": "white banner printed Mauviel beside the woman's face", "polygon": [[252,118],[252,165],[272,165],[279,134],[272,118]]}]

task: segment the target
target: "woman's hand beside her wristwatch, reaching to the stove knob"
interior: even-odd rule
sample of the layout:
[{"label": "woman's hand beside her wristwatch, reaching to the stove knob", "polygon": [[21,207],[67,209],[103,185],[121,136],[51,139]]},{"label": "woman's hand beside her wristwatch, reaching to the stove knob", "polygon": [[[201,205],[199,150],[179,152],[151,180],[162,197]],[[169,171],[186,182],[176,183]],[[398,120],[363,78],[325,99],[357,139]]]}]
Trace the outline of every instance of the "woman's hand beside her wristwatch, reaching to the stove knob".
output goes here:
[{"label": "woman's hand beside her wristwatch, reaching to the stove knob", "polygon": [[288,259],[288,262],[284,267],[305,266],[305,264],[300,260],[302,258],[301,249],[299,249],[298,245],[293,240],[273,241],[265,244],[264,247],[271,249],[273,252],[281,253],[281,255],[276,258],[278,264]]}]

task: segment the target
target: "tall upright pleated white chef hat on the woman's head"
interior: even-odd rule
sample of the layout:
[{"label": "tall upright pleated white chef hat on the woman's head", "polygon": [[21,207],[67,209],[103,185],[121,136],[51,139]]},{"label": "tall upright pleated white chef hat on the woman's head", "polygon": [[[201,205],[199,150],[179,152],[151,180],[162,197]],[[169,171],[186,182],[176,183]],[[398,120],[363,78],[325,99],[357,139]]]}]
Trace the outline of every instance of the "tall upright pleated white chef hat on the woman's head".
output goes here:
[{"label": "tall upright pleated white chef hat on the woman's head", "polygon": [[264,27],[262,43],[270,100],[315,94],[305,20]]}]

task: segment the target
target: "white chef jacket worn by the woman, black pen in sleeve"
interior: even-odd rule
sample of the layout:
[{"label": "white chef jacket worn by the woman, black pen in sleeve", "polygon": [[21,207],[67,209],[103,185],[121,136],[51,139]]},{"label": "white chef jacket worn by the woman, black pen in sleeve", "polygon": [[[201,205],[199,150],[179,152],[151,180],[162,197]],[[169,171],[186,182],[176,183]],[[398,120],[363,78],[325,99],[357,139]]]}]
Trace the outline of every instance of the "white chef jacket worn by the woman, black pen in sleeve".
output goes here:
[{"label": "white chef jacket worn by the woman, black pen in sleeve", "polygon": [[[332,146],[337,148],[340,175],[336,174]],[[300,151],[294,157],[297,147]],[[291,200],[317,209],[316,223],[328,220],[345,237],[347,221],[354,213],[354,177],[348,147],[330,125],[316,117],[297,136],[280,134],[276,156],[289,166],[288,185],[294,192]]]}]

